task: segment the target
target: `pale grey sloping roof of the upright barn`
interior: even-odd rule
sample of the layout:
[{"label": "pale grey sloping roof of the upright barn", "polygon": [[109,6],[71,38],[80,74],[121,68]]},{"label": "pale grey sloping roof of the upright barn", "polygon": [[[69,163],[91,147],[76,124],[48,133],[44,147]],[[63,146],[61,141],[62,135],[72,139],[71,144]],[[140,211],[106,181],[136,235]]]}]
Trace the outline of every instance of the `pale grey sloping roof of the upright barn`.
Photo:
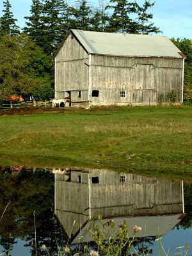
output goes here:
[{"label": "pale grey sloping roof of the upright barn", "polygon": [[167,36],[106,33],[71,29],[89,54],[185,58]]}]

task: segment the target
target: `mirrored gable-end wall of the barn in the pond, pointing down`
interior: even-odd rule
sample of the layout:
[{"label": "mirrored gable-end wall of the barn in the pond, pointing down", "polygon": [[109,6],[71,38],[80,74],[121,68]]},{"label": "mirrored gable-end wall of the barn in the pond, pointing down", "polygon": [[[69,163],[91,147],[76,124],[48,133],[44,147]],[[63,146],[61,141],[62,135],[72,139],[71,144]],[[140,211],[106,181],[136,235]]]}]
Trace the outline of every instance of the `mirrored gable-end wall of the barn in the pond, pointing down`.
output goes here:
[{"label": "mirrored gable-end wall of the barn in the pond, pointing down", "polygon": [[54,213],[70,236],[71,232],[76,234],[89,218],[88,185],[65,180],[65,175],[55,174]]}]

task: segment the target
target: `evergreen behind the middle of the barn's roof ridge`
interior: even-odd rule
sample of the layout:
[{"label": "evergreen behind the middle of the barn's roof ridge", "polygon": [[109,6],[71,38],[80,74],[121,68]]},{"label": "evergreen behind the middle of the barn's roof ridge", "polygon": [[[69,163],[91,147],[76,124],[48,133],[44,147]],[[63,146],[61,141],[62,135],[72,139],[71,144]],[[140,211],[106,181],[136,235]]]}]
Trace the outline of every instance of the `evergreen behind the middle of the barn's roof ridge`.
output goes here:
[{"label": "evergreen behind the middle of the barn's roof ridge", "polygon": [[113,10],[109,20],[109,31],[121,33],[138,33],[138,22],[131,19],[131,15],[136,13],[136,2],[127,2],[127,0],[110,0],[106,9]]}]

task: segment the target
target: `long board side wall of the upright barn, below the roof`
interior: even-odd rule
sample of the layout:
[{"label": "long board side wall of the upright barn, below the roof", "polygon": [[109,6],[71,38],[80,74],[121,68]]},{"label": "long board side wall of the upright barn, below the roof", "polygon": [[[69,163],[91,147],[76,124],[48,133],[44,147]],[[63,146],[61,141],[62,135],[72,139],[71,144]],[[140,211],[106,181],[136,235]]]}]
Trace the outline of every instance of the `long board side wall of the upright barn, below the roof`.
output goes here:
[{"label": "long board side wall of the upright barn, below the roof", "polygon": [[[92,56],[92,90],[99,90],[93,104],[167,102],[172,90],[182,100],[182,59]],[[125,97],[120,97],[120,92]]]}]

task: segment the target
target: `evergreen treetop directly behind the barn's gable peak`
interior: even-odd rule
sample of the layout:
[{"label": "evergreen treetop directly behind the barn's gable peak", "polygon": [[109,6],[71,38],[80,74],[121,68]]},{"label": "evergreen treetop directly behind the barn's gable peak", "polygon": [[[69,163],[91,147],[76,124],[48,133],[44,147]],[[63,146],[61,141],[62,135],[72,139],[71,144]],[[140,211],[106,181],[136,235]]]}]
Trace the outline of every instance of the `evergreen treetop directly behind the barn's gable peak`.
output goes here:
[{"label": "evergreen treetop directly behind the barn's gable peak", "polygon": [[86,0],[79,1],[76,7],[70,8],[71,22],[70,28],[94,30],[93,29],[93,11]]}]

